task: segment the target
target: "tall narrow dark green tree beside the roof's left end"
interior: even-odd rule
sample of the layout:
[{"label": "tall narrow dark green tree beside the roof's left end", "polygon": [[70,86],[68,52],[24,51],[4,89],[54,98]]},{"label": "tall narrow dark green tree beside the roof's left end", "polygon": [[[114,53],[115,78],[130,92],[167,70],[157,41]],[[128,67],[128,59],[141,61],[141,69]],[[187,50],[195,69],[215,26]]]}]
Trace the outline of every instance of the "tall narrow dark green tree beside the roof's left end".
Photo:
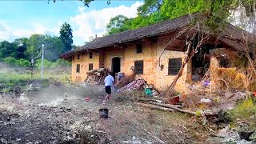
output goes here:
[{"label": "tall narrow dark green tree beside the roof's left end", "polygon": [[70,24],[64,23],[61,27],[61,30],[59,31],[60,37],[62,39],[62,42],[65,45],[64,52],[69,51],[72,49],[73,44],[73,34]]}]

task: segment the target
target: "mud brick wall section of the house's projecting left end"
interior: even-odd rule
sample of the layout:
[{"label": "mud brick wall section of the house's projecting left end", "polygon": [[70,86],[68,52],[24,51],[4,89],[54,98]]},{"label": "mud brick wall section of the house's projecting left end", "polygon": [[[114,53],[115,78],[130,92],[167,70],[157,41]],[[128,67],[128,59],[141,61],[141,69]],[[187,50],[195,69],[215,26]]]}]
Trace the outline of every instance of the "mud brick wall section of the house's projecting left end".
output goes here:
[{"label": "mud brick wall section of the house's projecting left end", "polygon": [[[79,54],[80,58],[78,59],[78,54],[75,54],[72,58],[72,71],[71,71],[71,80],[72,82],[83,82],[87,74],[86,72],[89,70],[89,64],[93,64],[93,68],[99,68],[99,54],[92,53],[93,58],[90,58],[89,53]],[[80,73],[77,73],[77,64],[80,64]]]}]

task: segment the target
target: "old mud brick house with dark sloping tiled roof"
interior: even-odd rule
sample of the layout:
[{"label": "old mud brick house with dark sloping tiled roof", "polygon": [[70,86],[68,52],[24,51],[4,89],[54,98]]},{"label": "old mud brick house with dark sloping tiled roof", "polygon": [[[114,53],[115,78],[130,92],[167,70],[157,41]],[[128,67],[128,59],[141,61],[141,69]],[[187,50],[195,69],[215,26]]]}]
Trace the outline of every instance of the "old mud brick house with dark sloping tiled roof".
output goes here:
[{"label": "old mud brick house with dark sloping tiled roof", "polygon": [[[142,77],[157,90],[163,90],[174,80],[182,66],[186,54],[186,35],[192,20],[190,15],[186,15],[137,30],[96,38],[62,54],[60,58],[72,60],[72,82],[84,81],[88,70],[104,67],[113,73],[129,75],[132,73],[130,68],[134,66],[136,78]],[[222,31],[222,34],[210,35],[202,43],[202,49],[190,59],[182,77],[178,79],[177,90],[186,89],[186,82],[200,80],[206,74],[210,56],[216,54],[218,48],[225,49],[218,54],[224,63],[228,60],[226,54],[242,51],[239,42],[243,41],[242,35],[246,32],[230,24]],[[254,42],[252,38],[249,40]]]}]

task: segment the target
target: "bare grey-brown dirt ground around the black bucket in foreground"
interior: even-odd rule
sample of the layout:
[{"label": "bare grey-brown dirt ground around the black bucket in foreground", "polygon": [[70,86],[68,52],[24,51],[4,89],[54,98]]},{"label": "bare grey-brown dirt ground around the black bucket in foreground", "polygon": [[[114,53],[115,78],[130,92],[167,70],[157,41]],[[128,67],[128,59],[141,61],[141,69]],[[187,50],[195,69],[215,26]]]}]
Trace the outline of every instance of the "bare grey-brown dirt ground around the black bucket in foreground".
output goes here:
[{"label": "bare grey-brown dirt ground around the black bucket in foreground", "polygon": [[[104,86],[70,85],[35,86],[19,98],[1,94],[0,143],[203,143],[208,137],[186,114],[148,110],[116,93],[103,105],[103,96]],[[110,118],[99,118],[100,108]]]}]

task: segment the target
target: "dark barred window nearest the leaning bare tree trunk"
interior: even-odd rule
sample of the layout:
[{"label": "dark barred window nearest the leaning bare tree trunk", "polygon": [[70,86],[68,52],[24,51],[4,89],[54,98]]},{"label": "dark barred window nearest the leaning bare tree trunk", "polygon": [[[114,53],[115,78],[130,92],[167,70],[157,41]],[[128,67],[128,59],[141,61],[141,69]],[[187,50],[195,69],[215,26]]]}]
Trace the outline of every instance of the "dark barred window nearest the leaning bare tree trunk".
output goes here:
[{"label": "dark barred window nearest the leaning bare tree trunk", "polygon": [[176,75],[182,66],[182,58],[169,59],[168,75]]}]

